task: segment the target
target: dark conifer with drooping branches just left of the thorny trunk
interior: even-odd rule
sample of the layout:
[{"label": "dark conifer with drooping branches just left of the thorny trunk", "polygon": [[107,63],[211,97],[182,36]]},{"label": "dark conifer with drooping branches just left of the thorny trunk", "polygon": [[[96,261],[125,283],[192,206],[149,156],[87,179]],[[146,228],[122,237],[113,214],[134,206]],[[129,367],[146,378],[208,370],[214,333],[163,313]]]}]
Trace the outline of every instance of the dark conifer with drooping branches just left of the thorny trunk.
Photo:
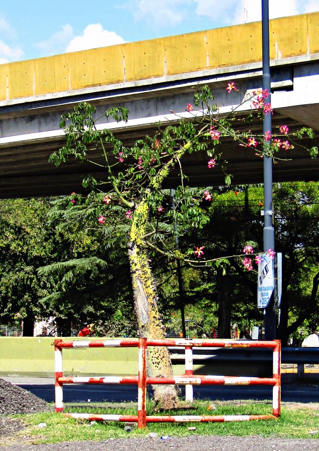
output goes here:
[{"label": "dark conifer with drooping branches just left of the thorny trunk", "polygon": [[38,269],[39,276],[55,283],[55,290],[40,302],[60,319],[62,335],[71,334],[71,325],[79,330],[93,323],[97,336],[135,336],[126,242],[120,234],[113,236],[114,241],[101,240],[98,224],[64,222],[67,205],[79,207],[72,200],[72,196],[55,200],[48,213],[51,227],[69,237],[73,246],[56,263]]}]

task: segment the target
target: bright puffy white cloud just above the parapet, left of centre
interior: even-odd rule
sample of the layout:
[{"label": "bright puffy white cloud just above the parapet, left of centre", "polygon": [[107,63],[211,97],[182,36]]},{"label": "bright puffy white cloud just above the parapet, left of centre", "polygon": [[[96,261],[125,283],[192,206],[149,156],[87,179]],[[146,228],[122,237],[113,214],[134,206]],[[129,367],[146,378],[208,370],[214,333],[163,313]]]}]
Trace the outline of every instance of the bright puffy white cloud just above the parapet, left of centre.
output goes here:
[{"label": "bright puffy white cloud just above the parapet, left of centre", "polygon": [[114,46],[124,42],[123,38],[115,32],[103,30],[100,24],[91,24],[86,27],[82,36],[72,39],[65,51],[76,52],[78,50],[96,49],[97,47]]}]

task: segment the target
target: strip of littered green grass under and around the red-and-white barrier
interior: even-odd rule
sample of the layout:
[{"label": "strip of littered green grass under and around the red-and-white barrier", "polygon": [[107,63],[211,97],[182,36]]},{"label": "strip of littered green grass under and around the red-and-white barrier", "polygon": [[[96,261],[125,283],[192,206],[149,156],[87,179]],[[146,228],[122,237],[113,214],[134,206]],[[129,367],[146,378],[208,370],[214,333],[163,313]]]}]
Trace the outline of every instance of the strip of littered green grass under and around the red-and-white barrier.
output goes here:
[{"label": "strip of littered green grass under and around the red-and-white barrier", "polygon": [[[209,409],[208,407],[211,406]],[[52,405],[52,410],[54,407]],[[91,403],[66,404],[65,412],[85,412],[103,414],[136,415],[136,403]],[[162,415],[255,415],[271,414],[269,401],[196,401],[182,409],[160,413]],[[154,405],[147,402],[147,415],[155,415]],[[157,413],[158,414],[158,413]],[[58,443],[77,440],[106,440],[119,437],[144,436],[155,432],[158,436],[185,435],[260,435],[263,437],[319,438],[319,404],[285,403],[281,416],[277,419],[230,421],[230,422],[186,422],[148,423],[145,429],[132,426],[130,432],[124,430],[123,422],[90,422],[69,418],[61,413],[45,412],[15,415],[12,421],[19,421],[25,427],[12,437],[0,436],[0,445],[16,443]],[[39,427],[45,423],[44,427]],[[192,427],[193,429],[189,429]],[[194,429],[194,427],[196,429]]]}]

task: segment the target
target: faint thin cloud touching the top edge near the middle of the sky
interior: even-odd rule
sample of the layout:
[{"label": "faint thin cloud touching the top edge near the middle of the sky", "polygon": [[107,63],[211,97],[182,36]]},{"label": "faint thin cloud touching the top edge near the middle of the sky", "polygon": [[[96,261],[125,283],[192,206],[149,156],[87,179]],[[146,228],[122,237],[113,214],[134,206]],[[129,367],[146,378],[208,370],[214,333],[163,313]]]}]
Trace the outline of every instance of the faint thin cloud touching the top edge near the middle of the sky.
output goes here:
[{"label": "faint thin cloud touching the top edge near the middle of the sky", "polygon": [[131,3],[136,22],[146,20],[154,27],[167,27],[182,22],[187,14],[187,6],[193,0],[139,0]]}]

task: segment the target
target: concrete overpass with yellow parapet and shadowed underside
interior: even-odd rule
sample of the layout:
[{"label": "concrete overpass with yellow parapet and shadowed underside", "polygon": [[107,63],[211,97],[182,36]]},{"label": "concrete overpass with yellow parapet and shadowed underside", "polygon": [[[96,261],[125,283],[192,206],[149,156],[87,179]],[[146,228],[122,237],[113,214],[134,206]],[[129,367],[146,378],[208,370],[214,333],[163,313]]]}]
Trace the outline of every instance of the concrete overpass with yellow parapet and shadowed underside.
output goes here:
[{"label": "concrete overpass with yellow parapet and shadowed underside", "polygon": [[[315,138],[304,141],[311,146],[319,146],[318,28],[319,13],[270,21],[273,129],[311,127]],[[73,161],[59,168],[48,163],[64,143],[61,113],[79,101],[93,103],[102,117],[99,126],[129,144],[153,133],[158,121],[189,116],[185,107],[194,86],[208,84],[221,111],[229,111],[240,96],[227,95],[226,83],[235,81],[243,93],[261,87],[261,59],[261,23],[256,22],[1,65],[0,198],[80,192],[81,175],[103,177]],[[103,118],[112,106],[129,109],[125,126]],[[260,122],[249,127],[262,131]],[[229,142],[219,150],[235,185],[262,182],[262,161],[253,152]],[[318,177],[319,159],[299,149],[291,157],[274,165],[274,181]],[[208,170],[206,155],[188,157],[185,173],[192,185],[223,184],[219,167]],[[168,186],[175,183],[173,174]]]}]

